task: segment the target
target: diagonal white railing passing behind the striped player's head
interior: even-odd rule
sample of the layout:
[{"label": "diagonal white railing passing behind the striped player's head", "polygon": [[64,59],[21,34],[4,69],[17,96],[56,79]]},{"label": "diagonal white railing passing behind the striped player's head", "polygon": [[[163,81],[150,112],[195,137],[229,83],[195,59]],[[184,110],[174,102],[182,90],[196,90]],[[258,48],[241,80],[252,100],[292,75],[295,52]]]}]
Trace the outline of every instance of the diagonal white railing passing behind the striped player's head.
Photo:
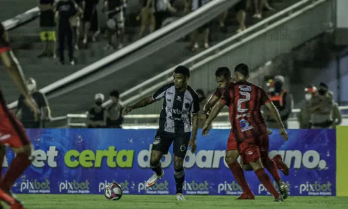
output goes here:
[{"label": "diagonal white railing passing behind the striped player's head", "polygon": [[[279,13],[276,13],[275,15],[268,17],[266,20],[262,20],[258,24],[251,26],[250,28],[246,29],[245,31],[242,31],[241,33],[237,33],[235,36],[232,36],[226,40],[223,40],[222,42],[219,42],[217,45],[214,45],[214,46],[210,47],[209,49],[206,49],[205,51],[201,52],[200,54],[197,54],[196,56],[193,56],[190,59],[187,59],[186,61],[184,61],[178,65],[190,65],[191,71],[199,69],[199,67],[201,65],[207,63],[207,61],[210,61],[211,59],[214,59],[215,56],[220,56],[223,52],[226,52],[227,49],[223,50],[222,52],[219,52],[219,49],[221,47],[226,46],[226,45],[230,44],[231,42],[234,42],[235,40],[239,40],[240,38],[244,38],[246,36],[246,34],[251,33],[251,36],[248,36],[248,37],[240,40],[239,42],[231,45],[230,47],[228,47],[228,51],[235,49],[235,48],[239,47],[240,45],[243,45],[245,42],[248,42],[250,40],[253,40],[254,38],[257,38],[262,33],[266,33],[267,31],[274,29],[276,26],[283,24],[284,22],[287,22],[289,20],[292,20],[293,18],[301,15],[301,13],[306,12],[306,10],[313,8],[317,5],[319,5],[320,3],[323,3],[324,1],[330,1],[330,0],[319,0],[319,1],[315,1],[315,2],[313,2],[313,0],[303,0],[303,1],[300,1],[298,3],[295,3],[294,5],[290,6],[289,8],[285,8],[284,10],[280,11]],[[293,13],[293,10],[301,8],[302,6],[304,6],[308,3],[312,3],[312,2],[313,2],[313,4],[310,4],[309,6],[302,8],[301,10],[297,11],[296,13]],[[284,15],[287,15],[287,17],[283,18],[282,20],[279,20],[278,22],[276,22],[274,24],[269,25],[270,22],[274,22],[274,20],[277,20],[279,17],[283,17]],[[257,31],[258,29],[260,31]],[[257,31],[257,32],[255,32],[255,31]],[[255,32],[255,33],[253,33],[253,32]],[[216,53],[216,52],[219,52],[219,53]],[[215,54],[215,56],[198,62],[200,59],[207,56],[208,54]],[[193,64],[193,63],[196,63],[196,64]],[[126,97],[127,95],[132,95],[136,92],[139,92],[139,93],[137,93],[137,95],[133,96],[132,98],[128,98],[127,100],[124,100],[125,104],[129,104],[129,103],[134,102],[135,100],[139,100],[139,98],[143,97],[143,95],[148,95],[149,93],[154,91],[154,89],[157,89],[160,86],[163,86],[164,84],[171,81],[171,78],[168,78],[168,77],[170,77],[170,75],[173,73],[173,70],[175,69],[175,67],[170,68],[164,72],[161,72],[159,75],[156,75],[155,77],[152,77],[151,79],[148,79],[147,81],[145,81],[137,86],[134,86],[133,88],[130,88],[129,90],[121,93],[120,98],[122,99],[122,98]],[[161,82],[158,82],[158,80],[161,80]],[[143,88],[145,88],[145,86],[148,86],[148,85],[153,84],[153,83],[156,83],[156,84],[152,85],[152,87],[150,87],[150,88],[146,88],[144,91]],[[110,103],[111,103],[111,100],[104,102],[105,105],[110,104]]]}]

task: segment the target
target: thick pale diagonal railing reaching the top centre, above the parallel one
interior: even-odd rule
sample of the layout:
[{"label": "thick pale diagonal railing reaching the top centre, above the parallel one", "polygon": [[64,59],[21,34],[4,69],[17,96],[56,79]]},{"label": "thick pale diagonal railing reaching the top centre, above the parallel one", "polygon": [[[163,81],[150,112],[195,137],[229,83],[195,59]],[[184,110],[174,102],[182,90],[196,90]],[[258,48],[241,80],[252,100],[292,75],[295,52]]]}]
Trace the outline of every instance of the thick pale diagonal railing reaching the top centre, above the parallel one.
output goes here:
[{"label": "thick pale diagonal railing reaching the top centre, above the parallel one", "polygon": [[[210,1],[205,4],[198,10],[189,13],[188,15],[180,18],[168,26],[151,33],[136,42],[133,42],[127,47],[124,47],[109,56],[104,57],[100,61],[97,61],[91,65],[88,65],[86,68],[83,68],[77,72],[72,73],[68,77],[64,77],[53,84],[49,84],[44,88],[40,89],[42,93],[54,93],[55,96],[59,95],[57,92],[59,89],[64,88],[66,91],[72,91],[74,88],[78,88],[79,86],[68,86],[67,84],[72,84],[77,79],[81,77],[85,77],[92,72],[96,72],[100,70],[106,65],[118,61],[115,68],[112,68],[111,71],[116,72],[117,70],[122,69],[123,67],[129,65],[129,63],[134,63],[135,61],[139,61],[144,57],[148,56],[148,54],[155,52],[159,47],[164,47],[171,42],[175,42],[175,40],[180,39],[182,36],[186,36],[188,33],[191,33],[192,29],[200,24],[204,24],[209,20],[212,20],[215,16],[212,13],[219,15],[226,8],[230,8],[238,0],[215,0]],[[132,54],[132,57],[128,55]],[[109,73],[109,72],[108,72]],[[8,108],[13,109],[17,105],[17,101],[8,104]]]}]

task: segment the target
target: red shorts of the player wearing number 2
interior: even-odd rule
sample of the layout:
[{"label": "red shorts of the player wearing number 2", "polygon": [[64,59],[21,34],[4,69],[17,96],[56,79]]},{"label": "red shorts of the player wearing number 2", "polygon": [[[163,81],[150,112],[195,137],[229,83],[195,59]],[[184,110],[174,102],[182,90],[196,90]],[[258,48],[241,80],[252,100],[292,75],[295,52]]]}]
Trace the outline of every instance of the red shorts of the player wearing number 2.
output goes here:
[{"label": "red shorts of the player wearing number 2", "polygon": [[263,134],[260,137],[245,139],[238,143],[240,155],[243,157],[243,163],[256,162],[260,157],[268,157],[269,137]]}]

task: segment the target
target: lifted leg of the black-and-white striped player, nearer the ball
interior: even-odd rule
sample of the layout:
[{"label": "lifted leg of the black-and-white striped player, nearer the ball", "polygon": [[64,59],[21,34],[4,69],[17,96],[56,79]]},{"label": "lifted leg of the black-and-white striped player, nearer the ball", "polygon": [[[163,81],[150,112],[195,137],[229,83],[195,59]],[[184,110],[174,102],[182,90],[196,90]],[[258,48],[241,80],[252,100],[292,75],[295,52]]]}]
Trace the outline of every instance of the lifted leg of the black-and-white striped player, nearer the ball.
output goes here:
[{"label": "lifted leg of the black-and-white striped player, nearer the ball", "polygon": [[164,136],[157,132],[154,142],[152,143],[150,167],[154,174],[146,181],[146,187],[152,187],[157,180],[164,176],[164,171],[161,167],[161,158],[168,153],[173,139]]}]

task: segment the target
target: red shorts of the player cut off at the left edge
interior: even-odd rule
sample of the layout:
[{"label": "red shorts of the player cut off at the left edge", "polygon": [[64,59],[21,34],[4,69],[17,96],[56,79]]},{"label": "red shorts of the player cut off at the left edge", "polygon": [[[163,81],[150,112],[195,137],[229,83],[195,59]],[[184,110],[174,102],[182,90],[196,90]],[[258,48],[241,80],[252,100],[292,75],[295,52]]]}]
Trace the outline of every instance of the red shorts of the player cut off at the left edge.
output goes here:
[{"label": "red shorts of the player cut off at the left edge", "polygon": [[0,144],[10,148],[30,144],[22,123],[8,110],[4,102],[0,104]]}]

